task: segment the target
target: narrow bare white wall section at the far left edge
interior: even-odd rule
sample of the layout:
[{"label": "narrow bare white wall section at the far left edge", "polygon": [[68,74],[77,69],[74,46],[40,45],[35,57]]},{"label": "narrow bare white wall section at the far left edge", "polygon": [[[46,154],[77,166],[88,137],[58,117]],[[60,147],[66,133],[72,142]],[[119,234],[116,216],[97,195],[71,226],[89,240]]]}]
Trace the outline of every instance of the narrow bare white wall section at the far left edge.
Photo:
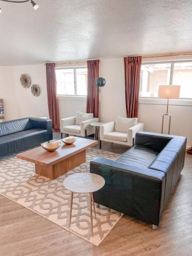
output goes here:
[{"label": "narrow bare white wall section at the far left edge", "polygon": [[18,118],[13,67],[0,67],[0,98],[4,99],[5,119],[8,121]]}]

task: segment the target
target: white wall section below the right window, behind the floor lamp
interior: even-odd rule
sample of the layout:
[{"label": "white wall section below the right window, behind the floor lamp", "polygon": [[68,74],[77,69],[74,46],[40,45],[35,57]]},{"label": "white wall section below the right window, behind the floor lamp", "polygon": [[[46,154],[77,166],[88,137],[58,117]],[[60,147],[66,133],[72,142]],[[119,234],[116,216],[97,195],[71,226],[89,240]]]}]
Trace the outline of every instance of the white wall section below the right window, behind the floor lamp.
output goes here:
[{"label": "white wall section below the right window, behind the floor lamp", "polygon": [[[166,113],[166,100],[140,99],[139,121],[144,130],[161,133],[162,115]],[[170,100],[168,113],[172,116],[170,134],[186,136],[187,146],[192,144],[192,100]],[[164,133],[168,132],[168,117],[165,117]]]}]

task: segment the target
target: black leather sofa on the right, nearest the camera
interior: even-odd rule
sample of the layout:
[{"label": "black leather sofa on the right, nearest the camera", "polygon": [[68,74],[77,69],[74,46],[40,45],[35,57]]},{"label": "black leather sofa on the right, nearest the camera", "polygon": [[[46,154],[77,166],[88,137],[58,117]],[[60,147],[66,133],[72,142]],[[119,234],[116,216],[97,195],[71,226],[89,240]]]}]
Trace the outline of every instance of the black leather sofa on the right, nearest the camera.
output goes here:
[{"label": "black leather sofa on the right, nearest the camera", "polygon": [[139,132],[135,145],[116,160],[96,158],[90,172],[105,179],[98,204],[159,225],[185,159],[186,138]]}]

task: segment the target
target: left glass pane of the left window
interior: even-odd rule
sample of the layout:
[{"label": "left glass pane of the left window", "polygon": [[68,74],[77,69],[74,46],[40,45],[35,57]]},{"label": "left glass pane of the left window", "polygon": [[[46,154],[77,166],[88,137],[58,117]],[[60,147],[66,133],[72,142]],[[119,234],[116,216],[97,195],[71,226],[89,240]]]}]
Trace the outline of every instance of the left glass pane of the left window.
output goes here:
[{"label": "left glass pane of the left window", "polygon": [[75,95],[74,69],[56,69],[57,94]]}]

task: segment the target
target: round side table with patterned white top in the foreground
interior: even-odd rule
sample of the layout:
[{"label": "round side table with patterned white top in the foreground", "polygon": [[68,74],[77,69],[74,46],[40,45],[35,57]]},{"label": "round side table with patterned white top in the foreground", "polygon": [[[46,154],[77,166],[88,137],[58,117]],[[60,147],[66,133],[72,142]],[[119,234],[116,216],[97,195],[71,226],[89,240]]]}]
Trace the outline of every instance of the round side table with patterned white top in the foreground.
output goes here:
[{"label": "round side table with patterned white top in the foreground", "polygon": [[91,236],[93,237],[93,215],[92,215],[92,206],[96,218],[95,204],[93,198],[93,192],[101,189],[105,184],[103,177],[97,174],[91,173],[78,173],[68,176],[63,181],[63,186],[71,191],[70,199],[70,217],[69,217],[69,226],[71,225],[72,217],[72,207],[73,207],[73,193],[89,193],[90,197],[90,218],[91,218]]}]

